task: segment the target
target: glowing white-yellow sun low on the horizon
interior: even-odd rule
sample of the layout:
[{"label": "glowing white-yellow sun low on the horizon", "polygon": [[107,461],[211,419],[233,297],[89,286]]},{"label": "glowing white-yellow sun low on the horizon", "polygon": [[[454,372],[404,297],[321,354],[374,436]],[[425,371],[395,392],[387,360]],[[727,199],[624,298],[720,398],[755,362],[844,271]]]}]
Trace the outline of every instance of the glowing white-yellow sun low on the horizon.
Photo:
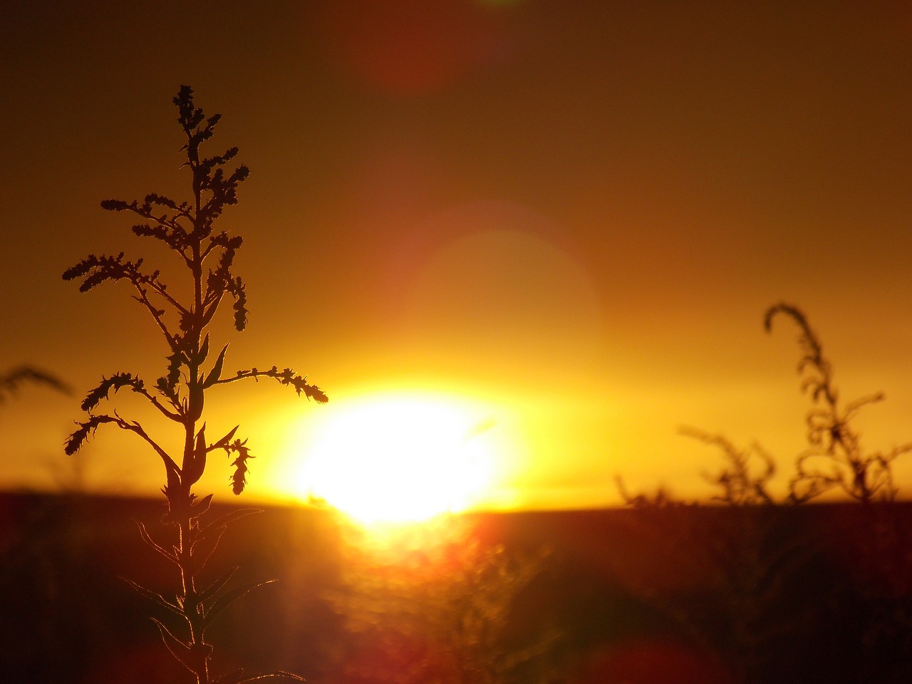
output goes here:
[{"label": "glowing white-yellow sun low on the horizon", "polygon": [[306,495],[362,523],[459,513],[491,481],[495,427],[481,405],[446,396],[339,401],[312,428],[298,482]]}]

